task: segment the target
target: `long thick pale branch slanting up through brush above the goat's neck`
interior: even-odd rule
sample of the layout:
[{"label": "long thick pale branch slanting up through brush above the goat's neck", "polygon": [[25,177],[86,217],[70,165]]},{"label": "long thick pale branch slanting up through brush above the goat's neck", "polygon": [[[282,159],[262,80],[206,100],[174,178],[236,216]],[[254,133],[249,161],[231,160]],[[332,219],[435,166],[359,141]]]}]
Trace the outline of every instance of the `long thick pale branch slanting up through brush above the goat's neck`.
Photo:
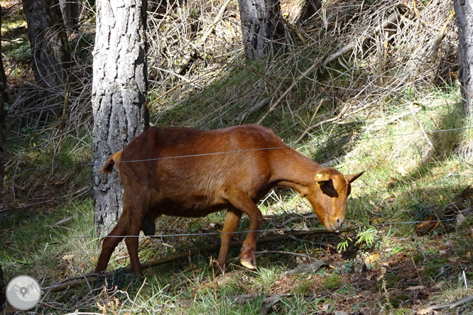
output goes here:
[{"label": "long thick pale branch slanting up through brush above the goat's neck", "polygon": [[315,60],[314,64],[312,66],[310,66],[308,70],[305,70],[305,72],[303,74],[301,74],[297,79],[295,79],[293,81],[293,84],[290,84],[290,87],[288,89],[286,89],[286,92],[284,92],[283,95],[281,95],[281,97],[279,97],[279,99],[276,101],[276,103],[271,105],[271,107],[268,109],[268,111],[266,111],[266,114],[264,114],[263,117],[261,117],[257,123],[261,124],[263,122],[263,120],[269,114],[271,114],[271,112],[274,111],[274,109],[276,109],[276,106],[278,106],[278,104],[281,103],[281,101],[283,101],[283,99],[289,94],[290,90],[293,89],[293,87],[295,87],[295,84],[297,84],[301,79],[303,79],[308,74],[310,74],[310,72],[312,72],[312,70],[314,70],[316,67],[318,67],[319,65],[324,67],[327,63],[332,62],[334,60],[337,60],[339,57],[342,57],[343,55],[346,55],[348,52],[351,52],[352,50],[354,50],[354,48],[357,44],[364,43],[366,40],[371,38],[371,36],[375,35],[376,33],[379,33],[379,31],[382,31],[389,24],[394,23],[397,20],[397,18],[398,18],[398,13],[397,12],[391,13],[391,15],[388,16],[386,21],[384,21],[384,23],[381,24],[381,26],[379,26],[377,28],[373,28],[371,31],[368,32],[368,34],[364,35],[364,37],[362,37],[360,40],[353,40],[351,43],[349,43],[347,45],[344,45],[344,47],[342,47],[340,50],[338,50],[337,52],[334,52],[332,55],[328,56],[327,59],[325,59],[325,56],[327,55],[327,54],[325,54],[322,57]]}]

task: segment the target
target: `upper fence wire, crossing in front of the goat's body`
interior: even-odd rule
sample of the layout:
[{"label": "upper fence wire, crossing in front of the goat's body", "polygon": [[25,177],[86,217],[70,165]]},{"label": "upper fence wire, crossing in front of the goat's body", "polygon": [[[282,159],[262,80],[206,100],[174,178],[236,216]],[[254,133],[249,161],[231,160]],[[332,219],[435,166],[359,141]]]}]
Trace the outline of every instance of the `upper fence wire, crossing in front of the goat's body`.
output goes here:
[{"label": "upper fence wire, crossing in front of the goat's body", "polygon": [[[393,137],[403,137],[403,136],[418,136],[418,135],[423,135],[425,133],[442,133],[442,132],[448,132],[448,131],[462,131],[462,130],[469,130],[472,129],[473,127],[462,127],[462,128],[452,128],[452,129],[439,129],[439,130],[433,130],[433,131],[425,131],[425,132],[418,132],[418,133],[399,133],[396,135],[389,135],[389,136],[374,136],[374,137],[364,137],[364,138],[357,138],[357,139],[352,139],[352,138],[340,138],[337,140],[324,140],[324,141],[310,141],[307,144],[304,145],[298,145],[298,147],[294,148],[297,150],[298,148],[303,148],[308,145],[322,145],[322,144],[327,144],[327,143],[337,143],[337,142],[342,142],[342,141],[347,141],[350,140],[352,142],[359,142],[361,140],[373,140],[373,139],[381,139],[381,138],[393,138]],[[276,149],[282,149],[282,148],[291,148],[290,145],[283,145],[281,147],[274,147],[274,148],[256,148],[256,149],[245,149],[245,150],[232,150],[232,151],[224,151],[224,152],[215,152],[215,153],[202,153],[202,154],[195,154],[195,155],[179,155],[179,156],[172,156],[172,157],[156,157],[152,159],[146,159],[146,160],[129,160],[129,161],[120,161],[121,163],[123,162],[148,162],[148,161],[154,161],[154,160],[169,160],[169,159],[177,159],[177,158],[184,158],[184,157],[201,157],[201,156],[206,156],[206,155],[220,155],[220,154],[229,154],[229,153],[242,153],[242,152],[250,152],[250,151],[257,151],[257,150],[276,150]],[[32,167],[28,168],[27,170],[15,170],[11,171],[11,174],[18,175],[24,172],[31,172],[33,170],[52,170],[52,169],[58,169],[58,168],[65,168],[65,167],[89,167],[89,166],[94,166],[94,165],[103,165],[104,162],[107,162],[107,160],[101,160],[99,162],[90,162],[90,163],[85,163],[85,164],[71,164],[71,165],[51,165],[48,167]]]}]

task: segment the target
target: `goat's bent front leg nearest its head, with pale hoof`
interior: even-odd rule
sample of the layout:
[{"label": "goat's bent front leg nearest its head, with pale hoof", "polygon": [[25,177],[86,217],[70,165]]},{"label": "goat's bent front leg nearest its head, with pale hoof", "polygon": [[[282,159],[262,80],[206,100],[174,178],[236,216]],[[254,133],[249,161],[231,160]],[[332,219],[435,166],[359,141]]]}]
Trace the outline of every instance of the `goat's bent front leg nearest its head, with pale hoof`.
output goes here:
[{"label": "goat's bent front leg nearest its head, with pale hoof", "polygon": [[241,246],[240,263],[244,267],[255,269],[256,238],[258,237],[259,227],[263,223],[263,215],[248,194],[239,189],[227,189],[226,198],[235,208],[243,211],[249,217],[250,226],[245,241]]}]

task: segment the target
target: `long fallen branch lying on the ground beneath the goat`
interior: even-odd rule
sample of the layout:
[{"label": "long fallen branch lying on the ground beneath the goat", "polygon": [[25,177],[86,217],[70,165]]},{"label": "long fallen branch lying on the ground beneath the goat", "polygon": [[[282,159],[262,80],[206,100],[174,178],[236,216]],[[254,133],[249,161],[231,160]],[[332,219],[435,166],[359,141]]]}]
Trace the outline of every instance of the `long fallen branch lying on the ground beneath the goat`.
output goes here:
[{"label": "long fallen branch lying on the ground beneath the goat", "polygon": [[[353,228],[342,228],[339,231],[331,231],[331,230],[327,230],[327,229],[311,230],[311,231],[292,231],[290,233],[286,233],[286,234],[283,234],[283,235],[270,236],[270,237],[267,237],[267,238],[259,238],[256,241],[256,243],[257,244],[281,243],[282,241],[287,241],[287,240],[290,240],[294,237],[303,237],[303,236],[310,236],[310,235],[317,235],[317,234],[337,234],[337,233],[349,232],[349,231],[352,231],[352,230],[353,230]],[[238,248],[238,247],[241,247],[241,245],[243,245],[243,242],[241,242],[241,241],[232,242],[232,245],[230,247]],[[168,262],[173,262],[175,260],[189,258],[189,257],[197,255],[198,253],[201,253],[201,252],[215,252],[219,249],[220,249],[220,244],[217,243],[217,244],[214,244],[214,245],[207,245],[207,246],[203,246],[203,247],[200,247],[200,248],[194,248],[192,250],[185,250],[181,253],[177,253],[175,255],[170,255],[170,256],[165,257],[165,258],[160,258],[158,260],[153,260],[151,262],[143,262],[141,264],[141,269],[156,267],[158,265],[164,265],[164,264],[167,264]],[[126,266],[125,268],[129,268],[129,266]],[[97,278],[97,277],[109,277],[111,275],[116,274],[117,272],[118,272],[118,270],[114,270],[114,271],[105,272],[105,273],[99,274],[99,275],[98,274],[82,275],[82,277],[80,277],[80,279],[77,279],[77,277],[73,277],[73,278],[66,279],[65,280],[66,282],[64,282],[64,283],[52,285],[50,287],[43,287],[42,290],[44,292],[45,291],[60,292],[62,290],[67,289],[68,287],[77,287],[81,284],[84,284],[87,279],[94,279],[94,278]],[[71,279],[75,279],[75,280],[71,281]]]}]

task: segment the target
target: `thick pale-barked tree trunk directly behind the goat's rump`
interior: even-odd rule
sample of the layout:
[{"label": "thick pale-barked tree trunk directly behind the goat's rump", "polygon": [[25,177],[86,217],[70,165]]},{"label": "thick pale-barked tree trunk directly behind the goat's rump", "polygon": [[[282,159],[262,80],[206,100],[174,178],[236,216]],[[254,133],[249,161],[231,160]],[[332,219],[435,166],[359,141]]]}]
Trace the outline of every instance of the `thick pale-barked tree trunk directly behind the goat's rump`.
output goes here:
[{"label": "thick pale-barked tree trunk directly behind the goat's rump", "polygon": [[92,177],[99,233],[113,228],[121,214],[122,189],[116,172],[102,165],[148,128],[146,92],[146,0],[97,1],[92,109]]}]

